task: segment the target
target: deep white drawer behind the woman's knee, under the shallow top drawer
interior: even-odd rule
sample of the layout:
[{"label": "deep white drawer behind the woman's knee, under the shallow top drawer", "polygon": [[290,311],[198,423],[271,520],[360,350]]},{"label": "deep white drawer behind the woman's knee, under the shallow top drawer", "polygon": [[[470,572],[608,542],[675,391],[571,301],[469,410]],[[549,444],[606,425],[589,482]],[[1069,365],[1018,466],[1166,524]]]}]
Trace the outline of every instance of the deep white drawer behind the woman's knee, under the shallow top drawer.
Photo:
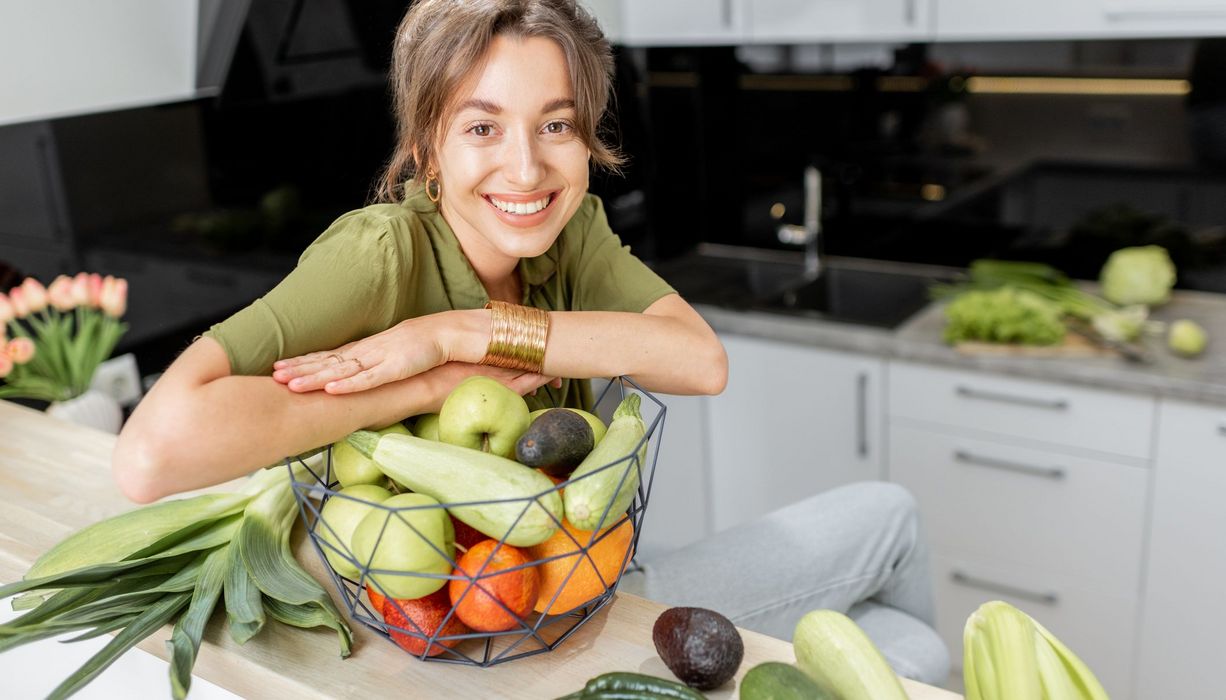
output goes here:
[{"label": "deep white drawer behind the woman's knee, under the shallow top drawer", "polygon": [[1149,470],[910,425],[889,455],[934,548],[1137,595]]}]

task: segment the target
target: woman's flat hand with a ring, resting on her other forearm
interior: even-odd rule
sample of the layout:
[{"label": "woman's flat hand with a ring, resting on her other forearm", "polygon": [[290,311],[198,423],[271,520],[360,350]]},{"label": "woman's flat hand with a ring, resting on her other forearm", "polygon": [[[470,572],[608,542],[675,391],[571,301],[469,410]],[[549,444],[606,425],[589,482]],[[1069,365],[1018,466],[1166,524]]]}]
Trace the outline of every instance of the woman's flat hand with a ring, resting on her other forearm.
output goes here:
[{"label": "woman's flat hand with a ring, resting on her other forearm", "polygon": [[336,349],[277,360],[272,379],[291,391],[322,389],[353,394],[408,379],[447,360],[430,316],[401,321],[386,331]]}]

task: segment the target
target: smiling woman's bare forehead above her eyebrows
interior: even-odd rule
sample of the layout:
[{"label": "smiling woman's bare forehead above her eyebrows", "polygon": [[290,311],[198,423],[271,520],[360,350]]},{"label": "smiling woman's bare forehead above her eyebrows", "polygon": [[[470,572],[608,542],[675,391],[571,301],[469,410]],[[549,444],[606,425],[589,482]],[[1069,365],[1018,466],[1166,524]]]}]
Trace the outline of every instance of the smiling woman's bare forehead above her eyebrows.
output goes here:
[{"label": "smiling woman's bare forehead above her eyebrows", "polygon": [[483,60],[454,96],[457,105],[479,101],[526,113],[574,97],[566,56],[557,42],[505,36],[494,37]]}]

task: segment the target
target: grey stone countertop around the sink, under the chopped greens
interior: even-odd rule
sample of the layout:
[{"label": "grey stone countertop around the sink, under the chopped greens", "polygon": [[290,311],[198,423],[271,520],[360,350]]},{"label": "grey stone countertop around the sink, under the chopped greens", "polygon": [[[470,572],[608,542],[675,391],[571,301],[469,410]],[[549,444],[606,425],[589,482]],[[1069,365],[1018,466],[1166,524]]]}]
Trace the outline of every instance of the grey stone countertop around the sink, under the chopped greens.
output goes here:
[{"label": "grey stone countertop around the sink, under the chopped greens", "polygon": [[1152,320],[1199,322],[1209,332],[1210,341],[1204,354],[1184,359],[1166,349],[1165,336],[1146,338],[1144,347],[1151,357],[1146,364],[1118,357],[962,354],[942,341],[945,320],[939,302],[894,330],[707,305],[696,309],[721,333],[1226,406],[1226,295],[1222,294],[1176,291],[1168,304],[1154,309]]}]

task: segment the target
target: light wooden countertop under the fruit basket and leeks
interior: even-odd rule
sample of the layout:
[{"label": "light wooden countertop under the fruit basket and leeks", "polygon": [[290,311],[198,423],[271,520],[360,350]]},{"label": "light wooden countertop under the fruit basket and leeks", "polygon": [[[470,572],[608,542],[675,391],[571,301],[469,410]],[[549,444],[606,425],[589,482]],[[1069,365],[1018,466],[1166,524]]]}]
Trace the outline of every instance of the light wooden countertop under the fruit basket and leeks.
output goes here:
[{"label": "light wooden countertop under the fruit basket and leeks", "polygon": [[[132,506],[110,478],[114,436],[61,423],[0,401],[0,582],[17,580],[56,542]],[[299,560],[321,581],[319,559],[304,546]],[[329,593],[336,593],[327,582]],[[7,603],[4,603],[7,604]],[[342,606],[343,609],[343,606]],[[353,653],[338,656],[331,630],[291,629],[275,622],[245,646],[230,640],[223,614],[205,635],[195,674],[246,698],[557,698],[609,671],[672,674],[656,655],[651,626],[664,606],[619,593],[597,618],[557,650],[490,668],[427,663],[359,623],[351,623]],[[793,662],[792,645],[741,630],[745,657],[741,677],[763,661]],[[141,649],[166,658],[169,628]],[[67,675],[71,669],[65,668]],[[953,700],[953,693],[904,679],[916,700]],[[709,694],[736,698],[736,685]]]}]

